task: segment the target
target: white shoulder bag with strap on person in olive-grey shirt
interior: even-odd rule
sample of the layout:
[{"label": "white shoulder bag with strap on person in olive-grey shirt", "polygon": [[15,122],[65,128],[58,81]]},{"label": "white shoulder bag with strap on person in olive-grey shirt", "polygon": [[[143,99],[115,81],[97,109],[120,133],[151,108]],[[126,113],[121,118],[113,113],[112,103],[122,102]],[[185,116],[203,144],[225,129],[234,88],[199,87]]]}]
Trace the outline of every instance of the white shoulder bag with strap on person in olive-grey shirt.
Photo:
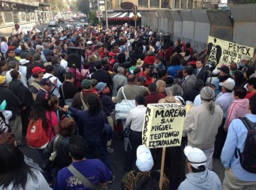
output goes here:
[{"label": "white shoulder bag with strap on person in olive-grey shirt", "polygon": [[[124,87],[121,87],[120,90],[124,95]],[[121,103],[116,103],[116,119],[127,119],[129,111],[135,107],[135,100],[127,100],[124,95],[124,100],[121,100]]]}]

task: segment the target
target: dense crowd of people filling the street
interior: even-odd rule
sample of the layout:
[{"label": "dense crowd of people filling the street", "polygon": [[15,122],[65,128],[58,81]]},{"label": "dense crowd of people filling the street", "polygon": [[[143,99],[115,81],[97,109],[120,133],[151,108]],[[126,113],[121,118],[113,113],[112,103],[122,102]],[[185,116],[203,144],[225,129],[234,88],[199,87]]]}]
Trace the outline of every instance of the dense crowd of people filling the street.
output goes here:
[{"label": "dense crowd of people filling the street", "polygon": [[[217,66],[207,47],[164,43],[147,26],[36,29],[1,37],[1,189],[107,188],[115,150],[102,138],[105,124],[124,138],[121,189],[158,189],[160,173],[152,168],[159,169],[161,150],[142,145],[149,103],[189,105],[181,146],[166,150],[163,189],[256,189],[256,174],[235,155],[247,134],[238,118],[256,122],[256,67],[248,56]],[[135,105],[118,118],[116,104],[124,100]],[[18,149],[38,121],[48,138],[37,147],[42,168]],[[223,186],[213,158],[225,167]]]}]

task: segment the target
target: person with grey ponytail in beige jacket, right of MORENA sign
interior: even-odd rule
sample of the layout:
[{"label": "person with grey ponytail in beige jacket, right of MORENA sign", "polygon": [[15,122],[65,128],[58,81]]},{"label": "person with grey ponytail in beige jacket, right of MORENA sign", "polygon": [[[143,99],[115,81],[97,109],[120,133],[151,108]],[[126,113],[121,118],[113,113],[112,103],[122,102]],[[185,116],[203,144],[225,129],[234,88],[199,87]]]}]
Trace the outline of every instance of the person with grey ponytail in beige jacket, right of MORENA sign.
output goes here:
[{"label": "person with grey ponytail in beige jacket, right of MORENA sign", "polygon": [[187,132],[188,145],[201,149],[206,154],[206,167],[212,170],[215,135],[222,124],[223,111],[215,105],[214,90],[211,87],[203,87],[200,98],[200,106],[187,111],[183,130]]}]

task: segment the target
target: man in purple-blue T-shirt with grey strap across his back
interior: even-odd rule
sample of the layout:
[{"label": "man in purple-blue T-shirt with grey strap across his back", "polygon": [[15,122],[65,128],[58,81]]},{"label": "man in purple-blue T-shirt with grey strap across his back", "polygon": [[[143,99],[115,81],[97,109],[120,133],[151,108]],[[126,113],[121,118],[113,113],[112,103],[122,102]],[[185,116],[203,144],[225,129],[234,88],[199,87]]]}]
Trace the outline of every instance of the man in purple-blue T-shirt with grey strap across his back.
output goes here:
[{"label": "man in purple-blue T-shirt with grey strap across his back", "polygon": [[[86,142],[81,136],[74,135],[70,138],[67,150],[72,157],[72,167],[75,167],[78,173],[87,178],[89,183],[99,186],[99,188],[108,186],[108,180],[112,173],[99,159],[86,159]],[[84,189],[85,186],[89,186],[82,181],[79,175],[70,171],[69,167],[64,167],[57,175],[54,189]]]}]

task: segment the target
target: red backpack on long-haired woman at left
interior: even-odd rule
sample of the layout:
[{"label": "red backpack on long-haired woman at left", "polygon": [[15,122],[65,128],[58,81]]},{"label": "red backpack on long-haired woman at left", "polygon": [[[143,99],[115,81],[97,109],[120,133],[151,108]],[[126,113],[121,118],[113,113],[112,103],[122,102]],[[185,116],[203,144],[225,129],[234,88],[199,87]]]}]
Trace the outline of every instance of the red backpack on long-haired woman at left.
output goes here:
[{"label": "red backpack on long-haired woman at left", "polygon": [[26,131],[26,143],[32,148],[39,149],[47,145],[49,138],[46,135],[45,129],[42,127],[42,119],[37,121],[29,121],[28,129]]}]

